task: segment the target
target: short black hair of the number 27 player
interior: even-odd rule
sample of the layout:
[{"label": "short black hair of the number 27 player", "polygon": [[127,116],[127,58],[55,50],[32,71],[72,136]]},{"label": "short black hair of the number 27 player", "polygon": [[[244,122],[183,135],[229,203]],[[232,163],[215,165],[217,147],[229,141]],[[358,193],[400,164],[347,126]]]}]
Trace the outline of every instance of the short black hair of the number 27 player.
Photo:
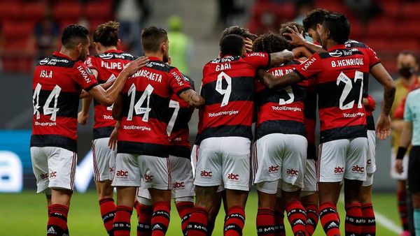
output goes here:
[{"label": "short black hair of the number 27 player", "polygon": [[339,44],[346,43],[350,36],[350,23],[347,17],[341,13],[325,15],[323,27],[330,31],[330,37]]}]

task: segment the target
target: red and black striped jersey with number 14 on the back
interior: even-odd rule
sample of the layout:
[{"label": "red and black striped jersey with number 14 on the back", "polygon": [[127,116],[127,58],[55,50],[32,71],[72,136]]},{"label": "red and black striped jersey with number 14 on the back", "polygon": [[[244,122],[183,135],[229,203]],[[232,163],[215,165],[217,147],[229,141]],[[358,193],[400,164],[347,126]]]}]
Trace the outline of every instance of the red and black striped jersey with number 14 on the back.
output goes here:
[{"label": "red and black striped jersey with number 14 on the back", "polygon": [[167,126],[174,113],[169,108],[172,94],[191,89],[177,68],[155,57],[127,80],[123,113],[118,130],[118,153],[167,157]]}]

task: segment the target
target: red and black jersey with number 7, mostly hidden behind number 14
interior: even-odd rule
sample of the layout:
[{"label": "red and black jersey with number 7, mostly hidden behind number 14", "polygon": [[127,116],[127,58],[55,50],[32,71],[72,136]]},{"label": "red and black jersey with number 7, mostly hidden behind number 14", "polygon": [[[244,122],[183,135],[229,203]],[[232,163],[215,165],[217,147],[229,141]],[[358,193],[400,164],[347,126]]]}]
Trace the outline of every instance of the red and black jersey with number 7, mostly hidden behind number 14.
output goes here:
[{"label": "red and black jersey with number 7, mostly hidden behind number 14", "polygon": [[[184,75],[186,82],[190,83],[190,87],[194,89],[194,81]],[[172,117],[167,126],[167,133],[169,135],[169,155],[190,158],[191,145],[188,138],[190,138],[190,129],[188,122],[193,116],[194,108],[178,95],[172,94],[169,103],[169,109],[172,109]]]}]

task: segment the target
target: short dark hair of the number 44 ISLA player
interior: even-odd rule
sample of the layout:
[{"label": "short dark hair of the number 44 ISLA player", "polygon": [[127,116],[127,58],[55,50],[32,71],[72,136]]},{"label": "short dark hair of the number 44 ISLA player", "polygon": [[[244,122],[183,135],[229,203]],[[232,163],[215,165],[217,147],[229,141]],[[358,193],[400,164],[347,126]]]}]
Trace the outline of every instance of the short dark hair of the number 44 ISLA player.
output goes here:
[{"label": "short dark hair of the number 44 ISLA player", "polygon": [[89,36],[89,31],[78,24],[69,24],[62,33],[62,45],[66,48],[74,48],[79,43],[84,43]]}]

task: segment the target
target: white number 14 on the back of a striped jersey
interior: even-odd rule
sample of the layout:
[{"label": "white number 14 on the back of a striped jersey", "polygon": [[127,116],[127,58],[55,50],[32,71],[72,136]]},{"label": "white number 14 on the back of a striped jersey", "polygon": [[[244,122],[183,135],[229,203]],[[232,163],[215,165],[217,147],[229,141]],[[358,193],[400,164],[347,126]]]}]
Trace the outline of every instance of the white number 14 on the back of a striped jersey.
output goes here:
[{"label": "white number 14 on the back of a striped jersey", "polygon": [[[131,121],[133,119],[133,112],[136,112],[136,115],[144,114],[143,119],[141,119],[144,122],[148,121],[148,115],[149,112],[151,112],[150,103],[151,103],[151,94],[153,91],[153,87],[151,84],[148,84],[146,89],[144,89],[143,94],[141,94],[141,97],[139,101],[134,105],[134,101],[136,100],[136,85],[132,84],[130,89],[128,90],[128,96],[131,95],[130,98],[130,109],[128,110],[127,115],[127,121]],[[147,101],[146,101],[147,99]],[[146,108],[142,108],[141,105],[144,104],[146,101]]]}]

